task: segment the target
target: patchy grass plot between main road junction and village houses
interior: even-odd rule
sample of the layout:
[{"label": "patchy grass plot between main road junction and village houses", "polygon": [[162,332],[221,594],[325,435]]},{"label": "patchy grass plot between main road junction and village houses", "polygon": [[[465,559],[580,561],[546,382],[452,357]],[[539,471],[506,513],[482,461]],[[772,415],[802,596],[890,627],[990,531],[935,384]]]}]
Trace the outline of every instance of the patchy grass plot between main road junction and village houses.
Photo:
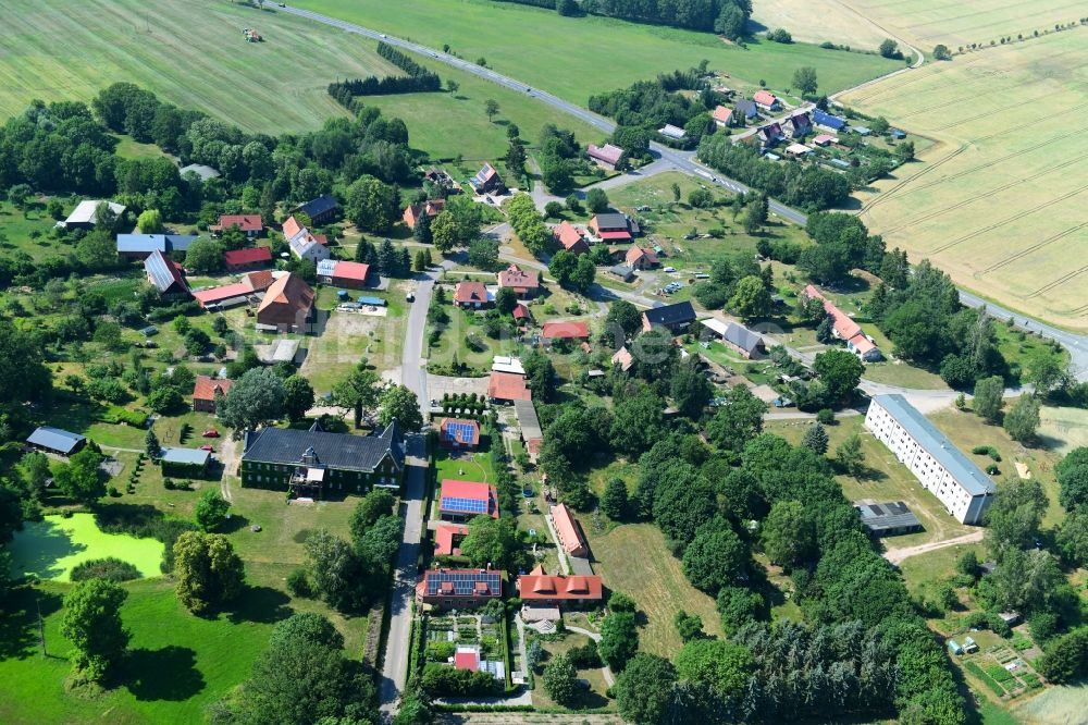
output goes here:
[{"label": "patchy grass plot between main road junction and village houses", "polygon": [[[680,187],[680,204],[673,201],[672,184]],[[739,221],[733,220],[729,207],[696,209],[689,206],[688,195],[701,187],[712,188],[697,176],[670,171],[609,189],[608,200],[614,207],[638,218],[647,237],[659,244],[668,255],[664,265],[685,270],[706,269],[715,260],[735,253],[755,253],[755,245],[761,237],[808,243],[803,229],[774,217],[762,232],[751,235]],[[715,196],[718,199],[729,199],[731,195]],[[650,207],[650,211],[639,211],[640,207]],[[721,230],[724,235],[721,238],[685,239],[684,236],[692,229],[700,235],[707,234],[710,230]],[[775,267],[776,270],[779,268],[778,265]]]}]

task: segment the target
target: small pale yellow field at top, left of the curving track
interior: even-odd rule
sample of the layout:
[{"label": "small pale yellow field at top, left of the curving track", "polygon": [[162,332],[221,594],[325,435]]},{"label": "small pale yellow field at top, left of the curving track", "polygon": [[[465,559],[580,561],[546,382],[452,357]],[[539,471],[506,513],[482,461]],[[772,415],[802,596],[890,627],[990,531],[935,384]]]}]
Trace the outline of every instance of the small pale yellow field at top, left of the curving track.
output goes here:
[{"label": "small pale yellow field at top, left of the curving track", "polygon": [[755,0],[752,20],[774,29],[784,27],[800,42],[830,41],[876,50],[888,37],[878,25],[840,0]]}]

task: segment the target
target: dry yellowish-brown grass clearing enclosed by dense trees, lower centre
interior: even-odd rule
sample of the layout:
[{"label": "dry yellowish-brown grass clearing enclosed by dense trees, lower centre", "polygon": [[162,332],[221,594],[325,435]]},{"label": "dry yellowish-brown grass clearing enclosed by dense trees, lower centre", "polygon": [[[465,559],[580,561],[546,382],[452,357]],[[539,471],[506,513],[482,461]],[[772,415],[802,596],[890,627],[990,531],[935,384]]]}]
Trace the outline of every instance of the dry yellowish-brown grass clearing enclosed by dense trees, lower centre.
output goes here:
[{"label": "dry yellowish-brown grass clearing enclosed by dense trees, lower centre", "polygon": [[671,658],[683,642],[672,625],[680,610],[703,617],[703,629],[721,635],[714,599],[689,583],[680,561],[665,546],[665,537],[652,524],[625,524],[607,533],[582,530],[593,552],[593,570],[606,587],[634,598],[645,622],[639,629],[640,649]]}]

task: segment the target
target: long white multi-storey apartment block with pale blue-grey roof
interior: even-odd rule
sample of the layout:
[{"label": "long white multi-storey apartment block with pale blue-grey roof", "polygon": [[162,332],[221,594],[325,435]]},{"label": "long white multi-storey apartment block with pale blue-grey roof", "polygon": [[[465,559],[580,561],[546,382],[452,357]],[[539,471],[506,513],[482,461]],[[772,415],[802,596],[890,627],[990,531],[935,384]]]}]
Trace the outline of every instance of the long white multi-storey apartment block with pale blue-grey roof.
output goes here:
[{"label": "long white multi-storey apartment block with pale blue-grey roof", "polygon": [[902,395],[877,395],[865,427],[961,524],[981,524],[993,483]]}]

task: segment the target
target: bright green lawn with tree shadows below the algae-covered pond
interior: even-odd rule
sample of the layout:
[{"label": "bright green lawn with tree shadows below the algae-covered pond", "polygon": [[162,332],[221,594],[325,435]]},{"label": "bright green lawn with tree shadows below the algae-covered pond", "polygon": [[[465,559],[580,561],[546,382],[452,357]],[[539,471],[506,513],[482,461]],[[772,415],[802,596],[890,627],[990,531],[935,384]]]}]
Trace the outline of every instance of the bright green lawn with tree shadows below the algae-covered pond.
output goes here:
[{"label": "bright green lawn with tree shadows below the algae-covered pond", "polygon": [[[67,587],[47,583],[17,590],[0,623],[0,722],[60,725],[71,723],[202,723],[206,709],[249,675],[268,644],[271,617],[286,616],[274,604],[264,613],[239,610],[197,617],[178,603],[163,579],[124,585],[128,599],[121,620],[131,629],[129,653],[115,673],[116,684],[95,698],[65,692],[72,668],[71,644],[60,634],[61,597]],[[252,606],[267,603],[262,590],[247,590]],[[37,611],[45,618],[48,658],[38,652]],[[252,616],[250,616],[252,615]]]}]

